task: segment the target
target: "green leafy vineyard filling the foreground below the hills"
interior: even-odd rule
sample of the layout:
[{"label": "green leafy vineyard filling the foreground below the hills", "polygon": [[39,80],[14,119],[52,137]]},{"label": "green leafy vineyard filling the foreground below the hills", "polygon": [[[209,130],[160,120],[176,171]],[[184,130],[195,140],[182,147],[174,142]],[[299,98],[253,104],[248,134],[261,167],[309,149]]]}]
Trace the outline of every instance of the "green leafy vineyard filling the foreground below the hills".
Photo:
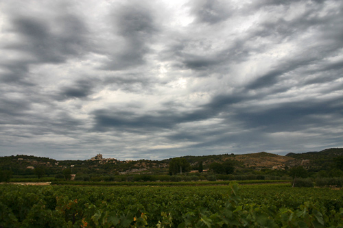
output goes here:
[{"label": "green leafy vineyard filling the foreground below the hills", "polygon": [[343,227],[343,192],[281,183],[1,185],[0,227]]}]

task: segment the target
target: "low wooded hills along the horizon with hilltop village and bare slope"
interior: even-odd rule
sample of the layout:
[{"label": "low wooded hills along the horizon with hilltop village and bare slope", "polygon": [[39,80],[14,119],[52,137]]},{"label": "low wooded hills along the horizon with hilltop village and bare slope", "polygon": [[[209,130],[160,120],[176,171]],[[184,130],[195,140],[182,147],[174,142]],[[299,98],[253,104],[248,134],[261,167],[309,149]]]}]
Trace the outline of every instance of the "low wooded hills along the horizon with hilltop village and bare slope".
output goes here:
[{"label": "low wooded hills along the horizon with hilltop village and bare slope", "polygon": [[[232,160],[237,170],[283,170],[294,166],[304,166],[307,170],[317,172],[330,170],[335,164],[335,158],[343,155],[343,148],[325,149],[319,152],[288,153],[285,156],[273,153],[259,152],[243,155],[205,155],[184,156],[191,164],[193,170],[197,170],[198,164],[203,163],[204,169],[209,168],[213,162],[222,163]],[[118,175],[129,173],[154,173],[167,174],[171,158],[161,161],[137,160],[119,161],[115,159],[90,160],[64,160],[56,161],[47,157],[34,157],[27,155],[12,155],[0,157],[0,169],[11,170],[13,175],[34,175],[33,168],[43,167],[46,175],[61,173],[65,168],[71,168],[74,173],[82,175]],[[29,168],[28,168],[29,167]]]}]

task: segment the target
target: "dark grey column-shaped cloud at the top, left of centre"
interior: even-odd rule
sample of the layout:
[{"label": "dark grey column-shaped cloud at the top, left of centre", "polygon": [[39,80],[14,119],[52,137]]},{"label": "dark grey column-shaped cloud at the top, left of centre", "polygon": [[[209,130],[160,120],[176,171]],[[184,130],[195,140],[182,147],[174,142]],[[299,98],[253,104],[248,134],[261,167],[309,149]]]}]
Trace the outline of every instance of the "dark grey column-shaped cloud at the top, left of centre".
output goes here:
[{"label": "dark grey column-shaped cloud at the top, left of centre", "polygon": [[138,1],[126,3],[113,9],[111,23],[121,41],[113,44],[104,69],[118,71],[144,64],[150,51],[147,44],[157,31],[154,12]]}]

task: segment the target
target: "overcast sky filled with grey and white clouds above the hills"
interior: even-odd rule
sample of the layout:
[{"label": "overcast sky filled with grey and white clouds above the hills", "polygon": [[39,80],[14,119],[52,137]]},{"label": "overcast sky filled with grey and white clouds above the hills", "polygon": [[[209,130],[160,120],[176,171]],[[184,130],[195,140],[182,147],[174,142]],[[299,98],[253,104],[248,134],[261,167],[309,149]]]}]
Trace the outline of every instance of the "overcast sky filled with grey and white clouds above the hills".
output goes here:
[{"label": "overcast sky filled with grey and white clouds above the hills", "polygon": [[0,0],[0,156],[343,147],[343,1]]}]

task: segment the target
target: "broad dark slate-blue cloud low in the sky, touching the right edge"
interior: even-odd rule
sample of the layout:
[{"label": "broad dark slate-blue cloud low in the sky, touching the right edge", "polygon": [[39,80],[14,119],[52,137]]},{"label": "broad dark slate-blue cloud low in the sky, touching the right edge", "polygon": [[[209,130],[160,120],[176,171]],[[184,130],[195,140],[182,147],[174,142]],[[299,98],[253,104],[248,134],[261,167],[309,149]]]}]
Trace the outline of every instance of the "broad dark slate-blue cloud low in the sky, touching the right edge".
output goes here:
[{"label": "broad dark slate-blue cloud low in the sky, touching the right edge", "polygon": [[329,101],[298,101],[264,107],[261,111],[246,110],[235,116],[246,128],[258,128],[263,132],[300,131],[310,127],[331,124],[320,116],[330,116],[331,120],[342,119],[343,97]]}]

